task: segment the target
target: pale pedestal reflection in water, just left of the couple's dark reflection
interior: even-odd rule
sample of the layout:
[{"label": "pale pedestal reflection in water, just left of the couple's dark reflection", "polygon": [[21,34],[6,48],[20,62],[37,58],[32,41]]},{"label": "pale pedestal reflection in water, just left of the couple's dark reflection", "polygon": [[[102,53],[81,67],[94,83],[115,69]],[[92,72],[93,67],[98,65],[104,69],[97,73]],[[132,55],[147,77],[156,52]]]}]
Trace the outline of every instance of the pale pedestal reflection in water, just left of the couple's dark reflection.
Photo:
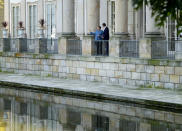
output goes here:
[{"label": "pale pedestal reflection in water, just left of the couple's dark reflection", "polygon": [[87,131],[92,130],[92,115],[87,113],[81,114],[81,125]]}]

